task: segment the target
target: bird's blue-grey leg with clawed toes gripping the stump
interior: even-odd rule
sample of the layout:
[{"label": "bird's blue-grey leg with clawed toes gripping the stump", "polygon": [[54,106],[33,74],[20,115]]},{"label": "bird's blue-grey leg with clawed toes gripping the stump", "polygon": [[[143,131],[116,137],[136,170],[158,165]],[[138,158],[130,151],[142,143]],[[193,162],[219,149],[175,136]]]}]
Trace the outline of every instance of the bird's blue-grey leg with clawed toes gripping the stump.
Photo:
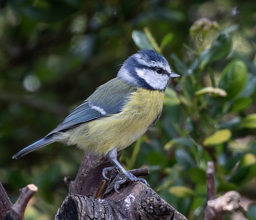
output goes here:
[{"label": "bird's blue-grey leg with clawed toes gripping the stump", "polygon": [[[126,171],[124,169],[124,167],[118,162],[117,160],[117,151],[116,151],[116,148],[112,149],[111,151],[108,152],[107,154],[107,157],[109,159],[109,161],[114,165],[114,166],[111,166],[111,167],[106,167],[103,169],[103,172],[102,172],[102,175],[104,176],[104,178],[108,179],[106,177],[106,174],[113,170],[113,169],[119,169],[120,171],[122,171],[124,173],[124,175],[126,176],[125,179],[122,179],[122,180],[118,180],[116,181],[115,185],[114,185],[114,189],[116,192],[118,192],[118,188],[120,187],[121,184],[125,183],[125,182],[128,182],[128,181],[140,181],[140,182],[143,182],[144,184],[146,184],[147,186],[148,183],[146,180],[142,179],[142,178],[137,178],[136,176],[134,176],[133,174],[131,174],[130,172]],[[119,193],[119,192],[118,192]]]}]

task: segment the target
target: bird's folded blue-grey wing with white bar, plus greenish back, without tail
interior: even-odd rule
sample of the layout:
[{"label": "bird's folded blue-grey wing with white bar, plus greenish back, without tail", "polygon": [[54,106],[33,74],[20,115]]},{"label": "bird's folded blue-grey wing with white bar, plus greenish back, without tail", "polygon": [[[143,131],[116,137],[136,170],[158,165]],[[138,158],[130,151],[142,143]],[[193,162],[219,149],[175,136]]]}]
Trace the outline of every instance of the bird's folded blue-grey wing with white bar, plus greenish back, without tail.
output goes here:
[{"label": "bird's folded blue-grey wing with white bar, plus greenish back, without tail", "polygon": [[[88,121],[119,113],[130,93],[134,91],[134,87],[123,86],[122,91],[119,90],[118,93],[116,93],[117,91],[111,84],[113,84],[113,82],[110,83],[109,81],[100,86],[94,94],[71,111],[53,131],[46,135],[46,137],[58,131],[64,131]],[[101,95],[98,96],[97,92],[100,90],[103,90],[103,93],[99,93]],[[108,93],[106,93],[106,90],[108,90]]]}]

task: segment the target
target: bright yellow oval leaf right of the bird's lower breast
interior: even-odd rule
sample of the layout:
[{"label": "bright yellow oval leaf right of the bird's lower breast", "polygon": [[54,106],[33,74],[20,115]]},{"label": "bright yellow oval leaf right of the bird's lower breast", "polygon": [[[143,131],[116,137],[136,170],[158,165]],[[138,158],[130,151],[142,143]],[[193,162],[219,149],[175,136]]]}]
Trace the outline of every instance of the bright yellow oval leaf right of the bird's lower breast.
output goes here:
[{"label": "bright yellow oval leaf right of the bird's lower breast", "polygon": [[229,129],[222,129],[222,130],[214,132],[209,137],[206,137],[206,139],[204,139],[203,144],[205,146],[222,144],[222,143],[228,141],[230,139],[231,135],[232,135],[232,133]]}]

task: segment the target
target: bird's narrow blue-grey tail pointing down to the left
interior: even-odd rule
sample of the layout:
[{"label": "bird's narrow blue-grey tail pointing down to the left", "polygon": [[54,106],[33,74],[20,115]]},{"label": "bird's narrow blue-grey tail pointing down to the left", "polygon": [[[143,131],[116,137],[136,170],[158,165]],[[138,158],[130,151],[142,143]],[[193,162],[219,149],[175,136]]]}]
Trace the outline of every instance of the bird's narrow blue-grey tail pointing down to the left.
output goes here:
[{"label": "bird's narrow blue-grey tail pointing down to the left", "polygon": [[33,143],[32,145],[29,145],[28,147],[25,147],[24,149],[22,149],[20,152],[16,153],[16,155],[13,155],[13,159],[16,158],[20,158],[32,151],[35,151],[41,147],[44,147],[50,143],[54,142],[52,140],[52,137],[44,137],[42,139],[40,139],[39,141],[36,141],[35,143]]}]

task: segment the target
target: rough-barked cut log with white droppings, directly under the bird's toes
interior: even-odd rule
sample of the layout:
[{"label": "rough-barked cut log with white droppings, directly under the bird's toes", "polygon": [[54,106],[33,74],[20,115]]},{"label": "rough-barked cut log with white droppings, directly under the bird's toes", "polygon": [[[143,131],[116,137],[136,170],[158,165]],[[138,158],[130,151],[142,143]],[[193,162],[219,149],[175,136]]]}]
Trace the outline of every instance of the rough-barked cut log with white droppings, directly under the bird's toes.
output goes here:
[{"label": "rough-barked cut log with white droppings, directly under the bird's toes", "polygon": [[114,183],[124,178],[122,173],[114,178],[102,199],[68,194],[55,220],[186,220],[154,190],[142,182],[128,182],[119,193],[114,191]]}]

